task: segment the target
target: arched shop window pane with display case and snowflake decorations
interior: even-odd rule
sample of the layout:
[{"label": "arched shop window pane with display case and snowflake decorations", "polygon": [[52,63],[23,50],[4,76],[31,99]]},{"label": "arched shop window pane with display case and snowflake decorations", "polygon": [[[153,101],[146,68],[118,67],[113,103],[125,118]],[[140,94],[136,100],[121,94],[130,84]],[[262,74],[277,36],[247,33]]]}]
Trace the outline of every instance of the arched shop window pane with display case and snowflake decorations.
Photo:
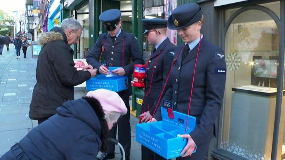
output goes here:
[{"label": "arched shop window pane with display case and snowflake decorations", "polygon": [[225,39],[221,148],[247,159],[270,159],[278,56],[279,32],[267,13],[248,10],[234,19]]}]

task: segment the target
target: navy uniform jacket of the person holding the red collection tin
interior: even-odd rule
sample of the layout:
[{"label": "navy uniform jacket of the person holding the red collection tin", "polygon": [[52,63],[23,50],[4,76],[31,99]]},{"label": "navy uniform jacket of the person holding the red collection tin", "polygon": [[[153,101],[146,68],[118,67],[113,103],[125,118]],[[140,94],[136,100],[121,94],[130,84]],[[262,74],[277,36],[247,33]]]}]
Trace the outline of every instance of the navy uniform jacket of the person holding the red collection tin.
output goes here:
[{"label": "navy uniform jacket of the person holding the red collection tin", "polygon": [[[171,68],[173,54],[176,50],[176,46],[172,44],[168,38],[163,41],[157,48],[157,50],[150,55],[148,63],[147,75],[145,78],[145,99],[143,102],[142,112],[150,110],[152,115],[156,106],[155,101],[159,98],[162,88],[165,84],[166,78]],[[160,56],[159,53],[161,52]],[[159,58],[158,58],[159,56]],[[157,59],[158,58],[158,59]],[[154,63],[157,60],[154,69]],[[152,71],[154,69],[152,87],[150,90],[150,83],[152,77]],[[149,92],[150,90],[150,92]],[[147,94],[149,92],[149,94]]]}]

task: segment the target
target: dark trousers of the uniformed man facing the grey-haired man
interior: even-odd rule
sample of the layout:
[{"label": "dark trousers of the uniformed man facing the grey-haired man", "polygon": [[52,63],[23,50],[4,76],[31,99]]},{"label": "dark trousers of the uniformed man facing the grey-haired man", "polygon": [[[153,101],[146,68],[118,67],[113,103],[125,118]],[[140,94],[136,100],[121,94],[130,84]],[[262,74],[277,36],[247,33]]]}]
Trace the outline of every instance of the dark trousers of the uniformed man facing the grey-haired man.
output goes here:
[{"label": "dark trousers of the uniformed man facing the grey-haired man", "polygon": [[[116,138],[117,134],[117,125],[118,125],[118,136],[119,143],[124,147],[126,156],[131,154],[131,125],[130,125],[130,103],[129,97],[121,97],[128,108],[128,112],[126,115],[121,116],[117,124],[113,126],[113,128],[109,131],[110,138]],[[112,143],[108,143],[107,154],[111,154],[115,152],[115,145]],[[122,152],[121,152],[122,155]]]}]

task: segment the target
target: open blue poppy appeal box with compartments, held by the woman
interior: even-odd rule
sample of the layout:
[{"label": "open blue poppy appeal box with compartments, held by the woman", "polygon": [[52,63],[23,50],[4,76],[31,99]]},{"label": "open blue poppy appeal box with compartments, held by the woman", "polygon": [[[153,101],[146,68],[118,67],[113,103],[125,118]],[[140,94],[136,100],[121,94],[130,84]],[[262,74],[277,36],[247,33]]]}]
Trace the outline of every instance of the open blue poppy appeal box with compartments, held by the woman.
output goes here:
[{"label": "open blue poppy appeal box with compartments, held by the woman", "polygon": [[[173,111],[174,118],[168,117],[167,109],[161,107],[162,121],[136,124],[135,140],[165,159],[180,157],[188,139],[177,137],[184,134],[187,115]],[[186,134],[195,129],[196,118],[189,116]],[[193,153],[196,153],[197,147]]]}]

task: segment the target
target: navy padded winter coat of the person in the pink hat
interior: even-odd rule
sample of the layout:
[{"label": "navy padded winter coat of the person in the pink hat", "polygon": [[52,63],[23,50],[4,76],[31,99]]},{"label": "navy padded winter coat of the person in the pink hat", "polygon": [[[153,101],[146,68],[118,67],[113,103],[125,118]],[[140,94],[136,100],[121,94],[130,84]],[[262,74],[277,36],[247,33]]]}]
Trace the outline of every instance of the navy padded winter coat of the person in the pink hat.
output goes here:
[{"label": "navy padded winter coat of the person in the pink hat", "polygon": [[107,144],[108,127],[97,99],[67,101],[56,111],[0,159],[94,160],[105,151],[101,146]]}]

